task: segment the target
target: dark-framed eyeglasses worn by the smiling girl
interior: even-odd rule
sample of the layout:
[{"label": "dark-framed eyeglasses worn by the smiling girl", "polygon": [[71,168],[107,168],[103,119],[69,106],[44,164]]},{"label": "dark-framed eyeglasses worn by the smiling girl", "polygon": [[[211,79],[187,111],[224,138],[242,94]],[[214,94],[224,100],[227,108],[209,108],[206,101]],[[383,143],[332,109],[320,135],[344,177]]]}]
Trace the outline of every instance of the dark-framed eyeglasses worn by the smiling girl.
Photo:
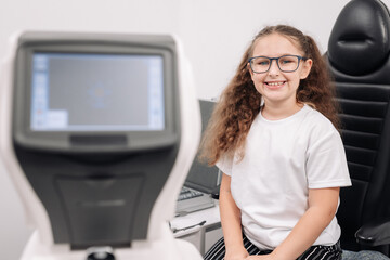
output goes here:
[{"label": "dark-framed eyeglasses worn by the smiling girl", "polygon": [[283,73],[294,73],[298,69],[300,60],[308,60],[299,55],[283,55],[280,57],[255,56],[248,60],[250,68],[253,73],[266,73],[271,68],[272,61],[275,60],[277,67]]}]

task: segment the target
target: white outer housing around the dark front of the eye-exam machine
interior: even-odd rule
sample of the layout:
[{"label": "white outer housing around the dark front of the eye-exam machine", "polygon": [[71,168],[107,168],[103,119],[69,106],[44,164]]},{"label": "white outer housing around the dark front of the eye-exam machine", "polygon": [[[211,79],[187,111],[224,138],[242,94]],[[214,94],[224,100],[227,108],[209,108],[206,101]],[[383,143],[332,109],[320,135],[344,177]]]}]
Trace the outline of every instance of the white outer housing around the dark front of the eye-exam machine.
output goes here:
[{"label": "white outer housing around the dark front of the eye-exam machine", "polygon": [[[167,178],[158,198],[153,205],[148,218],[147,234],[144,238],[131,240],[128,247],[115,247],[98,245],[92,248],[73,248],[69,243],[56,243],[53,237],[53,229],[50,217],[26,177],[21,161],[15,154],[14,125],[15,112],[15,58],[21,44],[20,39],[25,35],[38,36],[41,40],[56,40],[68,42],[72,39],[86,40],[89,42],[116,41],[118,39],[131,39],[132,35],[114,34],[74,34],[74,32],[20,32],[12,37],[8,57],[2,66],[0,86],[0,156],[10,174],[26,212],[27,221],[36,227],[36,232],[29,239],[22,259],[23,260],[84,260],[88,255],[96,250],[113,253],[117,260],[127,259],[202,259],[196,248],[187,242],[178,240],[168,226],[168,221],[174,216],[174,207],[179,191],[185,180],[186,173],[196,154],[200,138],[200,116],[194,89],[194,81],[188,62],[186,61],[180,41],[176,37],[168,37],[177,47],[178,82],[180,105],[180,144],[177,159],[171,172]],[[135,38],[139,36],[135,36]],[[141,36],[144,37],[144,36]],[[159,36],[153,36],[159,37]],[[167,36],[162,36],[167,37]],[[147,36],[146,36],[147,38]],[[20,113],[20,112],[18,112]],[[61,151],[56,151],[61,153]],[[82,151],[81,151],[82,153]],[[109,151],[106,153],[109,153]],[[152,164],[153,161],[151,161]]]}]

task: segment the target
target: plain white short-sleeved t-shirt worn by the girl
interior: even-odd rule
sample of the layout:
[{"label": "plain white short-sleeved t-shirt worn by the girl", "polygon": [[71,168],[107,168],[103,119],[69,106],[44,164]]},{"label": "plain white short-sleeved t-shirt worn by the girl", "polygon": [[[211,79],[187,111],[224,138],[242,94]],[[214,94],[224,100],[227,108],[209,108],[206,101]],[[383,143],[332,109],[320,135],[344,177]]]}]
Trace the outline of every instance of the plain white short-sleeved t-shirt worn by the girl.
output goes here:
[{"label": "plain white short-sleeved t-shirt worn by the girl", "polygon": [[[340,134],[308,105],[281,120],[260,113],[243,160],[222,158],[217,166],[231,177],[244,233],[260,249],[272,250],[287,237],[308,209],[309,188],[351,185]],[[314,245],[334,245],[339,237],[335,217]]]}]

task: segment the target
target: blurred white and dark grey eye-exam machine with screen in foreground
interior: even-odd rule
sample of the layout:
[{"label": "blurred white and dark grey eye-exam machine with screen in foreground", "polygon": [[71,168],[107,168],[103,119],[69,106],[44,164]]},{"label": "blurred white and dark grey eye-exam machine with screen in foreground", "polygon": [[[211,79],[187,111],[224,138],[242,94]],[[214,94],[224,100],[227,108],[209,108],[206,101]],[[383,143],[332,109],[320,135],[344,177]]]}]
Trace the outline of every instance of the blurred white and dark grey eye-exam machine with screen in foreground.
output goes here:
[{"label": "blurred white and dark grey eye-exam machine with screen in foreground", "polygon": [[27,31],[11,47],[0,152],[36,227],[22,259],[202,259],[168,226],[200,136],[178,40]]}]

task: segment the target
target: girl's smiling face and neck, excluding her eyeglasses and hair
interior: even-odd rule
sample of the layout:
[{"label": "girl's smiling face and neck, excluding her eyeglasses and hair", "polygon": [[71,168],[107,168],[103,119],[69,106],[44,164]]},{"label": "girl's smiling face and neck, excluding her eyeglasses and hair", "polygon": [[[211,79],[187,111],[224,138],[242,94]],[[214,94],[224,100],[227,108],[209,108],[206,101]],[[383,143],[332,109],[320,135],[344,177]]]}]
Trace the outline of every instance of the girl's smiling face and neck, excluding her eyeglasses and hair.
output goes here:
[{"label": "girl's smiling face and neck, excluding her eyeglasses and hair", "polygon": [[[280,34],[272,34],[257,40],[252,56],[280,57],[283,55],[304,56],[292,39]],[[249,64],[248,64],[249,66]],[[312,60],[301,60],[297,70],[292,73],[281,72],[276,61],[272,61],[266,73],[257,74],[250,68],[251,79],[257,91],[262,94],[265,105],[281,107],[282,105],[295,105],[299,81],[308,77],[312,66]]]}]

